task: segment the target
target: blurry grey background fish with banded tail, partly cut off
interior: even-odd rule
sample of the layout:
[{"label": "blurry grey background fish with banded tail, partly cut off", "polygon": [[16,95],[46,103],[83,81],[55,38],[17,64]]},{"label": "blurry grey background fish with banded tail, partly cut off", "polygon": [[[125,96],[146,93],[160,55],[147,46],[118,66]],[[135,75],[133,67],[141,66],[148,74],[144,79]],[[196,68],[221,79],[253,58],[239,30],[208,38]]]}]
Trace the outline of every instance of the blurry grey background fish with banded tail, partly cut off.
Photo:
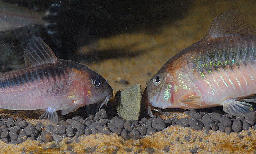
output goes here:
[{"label": "blurry grey background fish with banded tail, partly cut off", "polygon": [[0,31],[16,30],[29,25],[41,25],[46,29],[56,46],[60,48],[62,42],[55,20],[54,18],[48,19],[49,17],[53,17],[53,14],[57,14],[57,12],[52,12],[51,10],[58,10],[59,7],[60,4],[52,4],[48,8],[49,13],[44,14],[15,4],[0,1]]}]

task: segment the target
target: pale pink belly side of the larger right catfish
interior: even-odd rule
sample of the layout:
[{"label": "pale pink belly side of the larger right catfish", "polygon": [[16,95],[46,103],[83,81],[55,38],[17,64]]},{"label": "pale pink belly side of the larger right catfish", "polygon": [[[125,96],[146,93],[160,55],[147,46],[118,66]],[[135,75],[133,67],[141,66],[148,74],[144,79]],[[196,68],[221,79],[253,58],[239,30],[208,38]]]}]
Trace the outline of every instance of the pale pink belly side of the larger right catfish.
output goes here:
[{"label": "pale pink belly side of the larger right catfish", "polygon": [[205,107],[222,105],[228,98],[256,94],[256,63],[215,71],[201,79],[200,90]]}]

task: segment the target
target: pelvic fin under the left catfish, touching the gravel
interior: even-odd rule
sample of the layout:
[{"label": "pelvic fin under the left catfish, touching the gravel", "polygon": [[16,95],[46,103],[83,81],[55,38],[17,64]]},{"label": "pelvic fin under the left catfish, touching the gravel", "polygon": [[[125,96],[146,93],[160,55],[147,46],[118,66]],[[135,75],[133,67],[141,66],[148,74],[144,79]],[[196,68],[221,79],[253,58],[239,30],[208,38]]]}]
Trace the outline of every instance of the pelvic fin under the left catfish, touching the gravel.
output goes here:
[{"label": "pelvic fin under the left catfish, touching the gravel", "polygon": [[40,120],[46,127],[49,124],[53,124],[54,126],[57,126],[58,123],[58,114],[55,109],[53,108],[48,108],[48,109],[42,109],[39,110],[38,112],[43,112],[44,113],[40,116]]}]

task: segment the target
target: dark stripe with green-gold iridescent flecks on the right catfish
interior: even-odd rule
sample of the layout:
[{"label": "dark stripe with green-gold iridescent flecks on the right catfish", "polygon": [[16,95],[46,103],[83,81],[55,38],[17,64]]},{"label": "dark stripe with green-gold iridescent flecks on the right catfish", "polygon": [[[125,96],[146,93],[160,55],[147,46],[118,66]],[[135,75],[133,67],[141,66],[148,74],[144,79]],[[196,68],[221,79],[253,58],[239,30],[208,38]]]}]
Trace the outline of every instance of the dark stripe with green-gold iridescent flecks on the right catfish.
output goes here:
[{"label": "dark stripe with green-gold iridescent flecks on the right catfish", "polygon": [[[226,68],[232,69],[235,65],[239,67],[241,63],[246,65],[255,62],[253,58],[256,57],[256,45],[253,44],[256,44],[256,42],[250,37],[246,38],[246,42],[232,39],[215,40],[209,44],[206,50],[204,46],[197,46],[196,48],[191,46],[190,50],[201,51],[192,53],[191,60],[193,62],[190,61],[189,63],[192,63],[194,71],[199,71],[203,77],[206,72],[211,73]],[[241,44],[242,42],[244,43]],[[218,46],[212,44],[218,44]]]}]

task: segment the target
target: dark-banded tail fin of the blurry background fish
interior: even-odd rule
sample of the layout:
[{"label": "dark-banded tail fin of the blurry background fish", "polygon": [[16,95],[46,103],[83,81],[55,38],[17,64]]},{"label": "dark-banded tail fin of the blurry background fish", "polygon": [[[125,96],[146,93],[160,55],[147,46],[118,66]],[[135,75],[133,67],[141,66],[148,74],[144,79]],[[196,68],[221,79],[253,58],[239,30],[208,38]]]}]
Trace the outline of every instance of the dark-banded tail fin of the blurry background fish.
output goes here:
[{"label": "dark-banded tail fin of the blurry background fish", "polygon": [[60,39],[59,31],[56,25],[56,17],[58,12],[61,10],[61,1],[55,1],[45,12],[46,16],[43,18],[47,23],[44,25],[48,35],[56,44],[57,48],[62,46],[62,41]]}]

